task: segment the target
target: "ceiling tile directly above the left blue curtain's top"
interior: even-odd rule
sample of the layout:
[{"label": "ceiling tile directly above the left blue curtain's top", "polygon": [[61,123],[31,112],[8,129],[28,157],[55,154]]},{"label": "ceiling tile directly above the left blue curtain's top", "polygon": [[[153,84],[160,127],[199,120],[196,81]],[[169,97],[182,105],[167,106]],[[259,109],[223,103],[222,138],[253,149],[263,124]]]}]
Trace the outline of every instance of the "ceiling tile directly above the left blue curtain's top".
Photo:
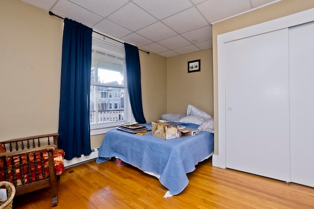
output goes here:
[{"label": "ceiling tile directly above the left blue curtain's top", "polygon": [[52,12],[64,18],[74,20],[89,27],[99,22],[102,17],[92,13],[68,0],[59,0]]}]

